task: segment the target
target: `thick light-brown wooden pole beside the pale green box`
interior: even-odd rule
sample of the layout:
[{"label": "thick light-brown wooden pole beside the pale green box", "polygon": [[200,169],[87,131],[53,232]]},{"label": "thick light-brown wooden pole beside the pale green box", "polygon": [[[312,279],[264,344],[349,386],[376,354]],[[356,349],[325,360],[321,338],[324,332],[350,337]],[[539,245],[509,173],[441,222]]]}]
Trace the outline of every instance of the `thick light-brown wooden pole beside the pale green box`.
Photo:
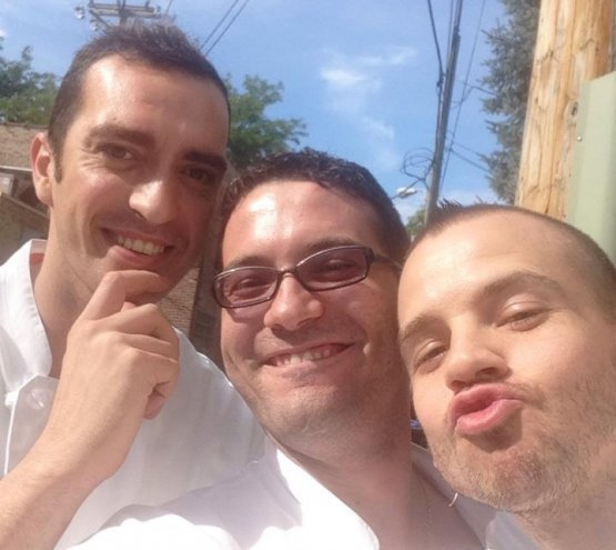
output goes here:
[{"label": "thick light-brown wooden pole beside the pale green box", "polygon": [[542,0],[516,204],[563,220],[583,82],[612,70],[615,0]]}]

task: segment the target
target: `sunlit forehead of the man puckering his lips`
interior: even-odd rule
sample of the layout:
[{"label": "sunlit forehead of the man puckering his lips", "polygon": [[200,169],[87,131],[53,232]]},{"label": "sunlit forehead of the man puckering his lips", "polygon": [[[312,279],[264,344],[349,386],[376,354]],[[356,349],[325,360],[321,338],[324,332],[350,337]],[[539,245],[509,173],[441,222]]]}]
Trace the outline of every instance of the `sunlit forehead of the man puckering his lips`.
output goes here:
[{"label": "sunlit forehead of the man puckering his lips", "polygon": [[461,220],[426,238],[410,256],[401,279],[401,301],[462,294],[512,272],[549,278],[563,288],[580,287],[579,273],[559,233],[547,223],[516,214]]}]

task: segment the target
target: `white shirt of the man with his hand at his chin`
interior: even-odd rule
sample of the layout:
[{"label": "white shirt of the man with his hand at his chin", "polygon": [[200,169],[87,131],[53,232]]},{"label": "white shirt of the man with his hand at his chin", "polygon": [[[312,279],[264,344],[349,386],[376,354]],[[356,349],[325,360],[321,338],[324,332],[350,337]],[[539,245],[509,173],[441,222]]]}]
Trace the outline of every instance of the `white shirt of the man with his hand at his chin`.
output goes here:
[{"label": "white shirt of the man with his hand at his chin", "polygon": [[[24,244],[0,267],[0,460],[6,476],[47,422],[58,380],[30,279],[43,241]],[[122,466],[83,502],[57,549],[98,531],[121,508],[160,504],[212,484],[262,453],[263,431],[240,394],[181,333],[178,387],[143,422]]]}]

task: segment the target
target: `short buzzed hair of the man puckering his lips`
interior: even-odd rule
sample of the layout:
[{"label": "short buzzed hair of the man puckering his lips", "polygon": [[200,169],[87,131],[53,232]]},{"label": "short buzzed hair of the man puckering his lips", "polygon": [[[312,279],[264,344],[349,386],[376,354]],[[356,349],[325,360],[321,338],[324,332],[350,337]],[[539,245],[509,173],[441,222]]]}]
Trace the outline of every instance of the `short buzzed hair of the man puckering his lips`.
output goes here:
[{"label": "short buzzed hair of the man puckering his lips", "polygon": [[553,228],[562,239],[565,251],[570,254],[576,268],[587,280],[600,308],[608,319],[616,320],[616,268],[605,251],[579,229],[532,210],[504,204],[462,206],[456,202],[443,201],[425,228],[413,240],[407,256],[427,237],[434,237],[464,220],[497,213],[525,216]]}]

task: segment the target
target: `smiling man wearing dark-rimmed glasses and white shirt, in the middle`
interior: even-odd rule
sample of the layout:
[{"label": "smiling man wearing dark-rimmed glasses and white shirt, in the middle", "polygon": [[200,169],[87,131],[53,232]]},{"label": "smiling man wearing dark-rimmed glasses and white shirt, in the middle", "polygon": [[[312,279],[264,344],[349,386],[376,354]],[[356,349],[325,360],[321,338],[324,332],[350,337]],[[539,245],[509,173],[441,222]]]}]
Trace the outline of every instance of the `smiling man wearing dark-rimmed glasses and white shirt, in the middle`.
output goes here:
[{"label": "smiling man wearing dark-rimmed glasses and white shirt, in the middle", "polygon": [[[270,434],[236,478],[132,508],[84,549],[448,549],[516,546],[411,442],[396,289],[408,244],[357,164],[305,150],[249,169],[222,200],[222,353]],[[135,519],[137,518],[137,519]],[[488,523],[491,527],[488,528]]]}]

